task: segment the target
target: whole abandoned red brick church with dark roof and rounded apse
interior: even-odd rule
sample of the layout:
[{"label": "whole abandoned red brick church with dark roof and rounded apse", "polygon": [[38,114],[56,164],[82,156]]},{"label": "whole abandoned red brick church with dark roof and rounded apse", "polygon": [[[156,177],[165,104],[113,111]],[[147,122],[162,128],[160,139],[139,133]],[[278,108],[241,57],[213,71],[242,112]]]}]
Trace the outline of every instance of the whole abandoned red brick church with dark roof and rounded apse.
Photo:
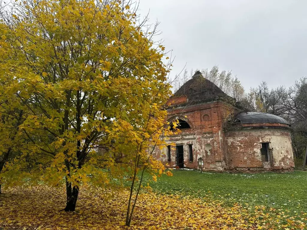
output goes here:
[{"label": "whole abandoned red brick church with dark roof and rounded apse", "polygon": [[162,137],[168,144],[154,151],[168,167],[199,169],[200,163],[207,171],[293,171],[289,123],[245,112],[199,71],[169,104],[169,121],[178,119],[181,132]]}]

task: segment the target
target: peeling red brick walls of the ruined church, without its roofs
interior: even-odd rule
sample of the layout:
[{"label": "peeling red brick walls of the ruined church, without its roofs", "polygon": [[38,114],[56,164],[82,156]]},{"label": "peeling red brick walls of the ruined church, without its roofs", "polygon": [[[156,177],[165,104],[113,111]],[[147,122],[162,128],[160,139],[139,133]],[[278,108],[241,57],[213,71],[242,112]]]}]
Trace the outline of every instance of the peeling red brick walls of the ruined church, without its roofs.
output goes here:
[{"label": "peeling red brick walls of the ruined church, without its roofs", "polygon": [[[181,119],[190,128],[183,128],[173,136],[161,137],[166,141],[166,146],[173,144],[170,159],[167,158],[166,146],[155,148],[153,152],[166,167],[178,166],[178,159],[182,158],[177,154],[177,146],[182,146],[183,167],[187,168],[199,169],[198,159],[202,158],[203,170],[207,171],[293,171],[289,125],[241,124],[225,131],[224,121],[234,112],[234,108],[218,99],[182,107],[179,103],[168,112],[169,121]],[[268,146],[268,161],[263,160],[261,154],[263,143]],[[192,145],[192,159],[189,157],[189,145]]]}]

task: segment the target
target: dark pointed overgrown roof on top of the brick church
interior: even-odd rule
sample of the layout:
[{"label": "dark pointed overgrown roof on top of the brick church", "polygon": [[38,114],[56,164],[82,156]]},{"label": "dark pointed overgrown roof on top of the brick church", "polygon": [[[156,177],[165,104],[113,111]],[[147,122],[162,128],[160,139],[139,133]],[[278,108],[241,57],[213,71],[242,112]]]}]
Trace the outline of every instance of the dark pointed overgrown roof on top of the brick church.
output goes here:
[{"label": "dark pointed overgrown roof on top of the brick church", "polygon": [[192,79],[185,82],[173,95],[173,98],[187,96],[188,101],[199,101],[215,97],[228,96],[213,82],[205,79],[200,71],[196,71]]}]

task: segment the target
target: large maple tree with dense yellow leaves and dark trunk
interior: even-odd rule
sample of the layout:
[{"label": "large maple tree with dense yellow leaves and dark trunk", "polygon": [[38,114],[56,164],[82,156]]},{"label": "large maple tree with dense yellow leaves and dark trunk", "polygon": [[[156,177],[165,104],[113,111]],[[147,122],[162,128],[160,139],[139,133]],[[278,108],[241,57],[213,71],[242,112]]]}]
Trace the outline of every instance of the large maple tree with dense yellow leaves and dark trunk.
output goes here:
[{"label": "large maple tree with dense yellow leaves and dark trunk", "polygon": [[54,186],[65,178],[64,210],[74,211],[81,184],[103,186],[141,157],[151,164],[144,149],[159,141],[170,95],[164,47],[130,2],[17,0],[4,9],[1,93],[26,111],[18,134],[27,143],[7,178]]}]

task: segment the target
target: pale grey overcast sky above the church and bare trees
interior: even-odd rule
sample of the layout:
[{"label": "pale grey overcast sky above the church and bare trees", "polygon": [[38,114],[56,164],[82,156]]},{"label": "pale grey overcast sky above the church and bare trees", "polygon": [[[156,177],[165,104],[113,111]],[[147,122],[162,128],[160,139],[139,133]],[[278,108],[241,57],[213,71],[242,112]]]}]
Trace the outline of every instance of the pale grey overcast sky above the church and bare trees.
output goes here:
[{"label": "pale grey overcast sky above the church and bare trees", "polygon": [[245,90],[261,81],[291,85],[307,75],[307,1],[140,0],[176,56],[171,75],[190,69],[232,71]]}]

